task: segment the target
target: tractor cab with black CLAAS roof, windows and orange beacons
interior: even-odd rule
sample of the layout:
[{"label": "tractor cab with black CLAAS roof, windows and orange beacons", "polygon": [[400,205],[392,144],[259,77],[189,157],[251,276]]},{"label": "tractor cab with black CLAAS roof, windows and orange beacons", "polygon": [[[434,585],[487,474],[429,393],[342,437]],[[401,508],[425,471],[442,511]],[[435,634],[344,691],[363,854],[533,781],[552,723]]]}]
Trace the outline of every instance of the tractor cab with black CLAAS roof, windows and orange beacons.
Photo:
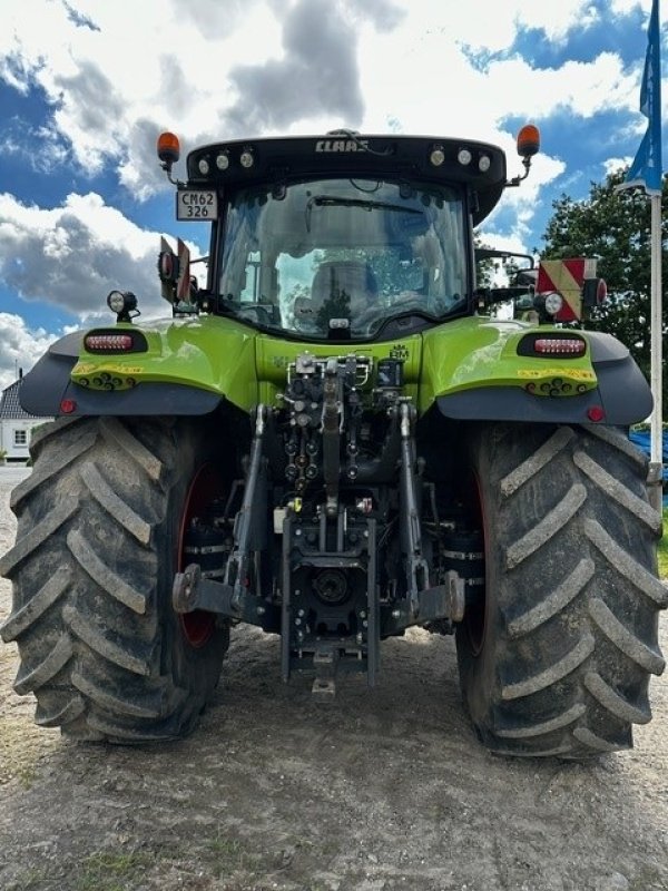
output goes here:
[{"label": "tractor cab with black CLAAS roof, windows and orange beacons", "polygon": [[[169,175],[175,139],[158,143]],[[527,169],[537,150],[538,136],[521,143]],[[218,143],[191,151],[187,172],[173,180],[177,217],[213,224],[195,304],[282,337],[340,342],[474,312],[472,226],[523,178],[507,182],[491,145],[351,131]],[[176,304],[175,276],[163,274],[174,264],[160,268]]]}]

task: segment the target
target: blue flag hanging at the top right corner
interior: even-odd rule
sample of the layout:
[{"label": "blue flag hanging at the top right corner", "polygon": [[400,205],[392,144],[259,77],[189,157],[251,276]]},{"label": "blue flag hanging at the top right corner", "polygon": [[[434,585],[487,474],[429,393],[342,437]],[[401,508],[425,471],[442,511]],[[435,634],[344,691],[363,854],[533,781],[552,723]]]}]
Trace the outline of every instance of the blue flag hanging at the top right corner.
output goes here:
[{"label": "blue flag hanging at the top right corner", "polygon": [[659,29],[659,0],[652,0],[647,31],[647,57],[640,87],[640,111],[649,119],[647,133],[623,186],[644,186],[648,195],[661,194],[664,166],[661,163],[661,33]]}]

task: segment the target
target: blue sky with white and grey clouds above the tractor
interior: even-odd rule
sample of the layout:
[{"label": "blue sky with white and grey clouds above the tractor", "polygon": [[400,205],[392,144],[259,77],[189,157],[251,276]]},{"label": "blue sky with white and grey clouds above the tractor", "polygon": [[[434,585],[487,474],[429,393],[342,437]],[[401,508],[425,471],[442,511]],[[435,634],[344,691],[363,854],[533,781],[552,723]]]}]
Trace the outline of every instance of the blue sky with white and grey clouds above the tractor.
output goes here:
[{"label": "blue sky with white and grey clouds above the tractor", "polygon": [[[650,6],[0,0],[0,389],[58,336],[112,322],[114,288],[135,292],[144,319],[169,312],[160,236],[204,254],[208,227],[174,218],[156,157],[166,129],[181,178],[199,144],[341,127],[491,141],[514,176],[532,123],[541,154],[480,234],[540,253],[552,202],[586,198],[640,145]],[[666,120],[666,77],[662,95]]]}]

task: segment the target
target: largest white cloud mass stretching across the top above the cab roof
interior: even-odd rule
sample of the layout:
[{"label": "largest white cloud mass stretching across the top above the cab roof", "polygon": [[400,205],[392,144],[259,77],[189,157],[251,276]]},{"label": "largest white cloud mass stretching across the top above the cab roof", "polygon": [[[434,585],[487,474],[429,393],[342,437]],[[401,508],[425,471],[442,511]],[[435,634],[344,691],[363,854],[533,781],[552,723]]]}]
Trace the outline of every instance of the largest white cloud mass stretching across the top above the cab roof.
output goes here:
[{"label": "largest white cloud mass stretching across the top above the cab roof", "polygon": [[186,148],[242,134],[386,130],[394,120],[404,133],[494,138],[509,116],[637,105],[637,72],[625,75],[610,53],[547,71],[508,59],[483,74],[462,49],[502,50],[520,27],[562,40],[596,18],[591,0],[495,0],[483,10],[459,0],[143,0],[131,25],[107,0],[81,0],[77,11],[95,28],[62,3],[12,3],[0,75],[18,88],[39,84],[77,161],[96,173],[111,160],[139,197],[164,183],[161,129],[177,129]]}]

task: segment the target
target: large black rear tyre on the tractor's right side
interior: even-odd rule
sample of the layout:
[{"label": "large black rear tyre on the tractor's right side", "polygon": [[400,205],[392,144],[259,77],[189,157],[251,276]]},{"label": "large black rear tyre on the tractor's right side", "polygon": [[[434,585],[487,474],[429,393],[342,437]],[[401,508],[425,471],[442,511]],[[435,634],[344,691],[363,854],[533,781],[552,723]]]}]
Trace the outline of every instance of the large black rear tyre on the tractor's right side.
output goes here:
[{"label": "large black rear tyre on the tractor's right side", "polygon": [[456,646],[479,736],[511,755],[631,747],[665,666],[644,457],[615,429],[528,424],[480,428],[470,454],[485,595]]}]

